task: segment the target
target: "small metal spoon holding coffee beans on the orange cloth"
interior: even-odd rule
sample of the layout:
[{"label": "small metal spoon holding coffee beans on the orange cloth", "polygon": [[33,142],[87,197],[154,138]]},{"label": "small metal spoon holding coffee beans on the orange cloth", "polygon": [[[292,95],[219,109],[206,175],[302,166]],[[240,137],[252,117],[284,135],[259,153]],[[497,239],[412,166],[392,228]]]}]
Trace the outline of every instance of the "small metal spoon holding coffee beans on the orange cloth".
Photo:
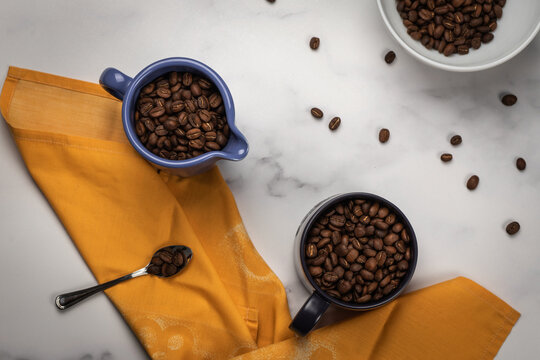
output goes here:
[{"label": "small metal spoon holding coffee beans on the orange cloth", "polygon": [[104,284],[58,295],[54,302],[58,309],[65,310],[100,291],[108,289],[111,286],[121,283],[122,281],[133,279],[141,275],[150,274],[163,278],[171,277],[182,271],[191,261],[192,256],[193,252],[187,246],[166,246],[156,251],[152,256],[150,263],[148,263],[148,265],[142,269]]}]

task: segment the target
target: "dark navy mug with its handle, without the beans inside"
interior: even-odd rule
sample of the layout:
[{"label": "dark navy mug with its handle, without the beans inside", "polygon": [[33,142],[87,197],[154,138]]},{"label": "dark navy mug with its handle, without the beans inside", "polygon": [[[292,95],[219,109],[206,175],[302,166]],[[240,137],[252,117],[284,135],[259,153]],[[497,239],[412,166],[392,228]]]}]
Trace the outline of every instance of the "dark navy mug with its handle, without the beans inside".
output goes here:
[{"label": "dark navy mug with its handle, without the beans inside", "polygon": [[[378,201],[381,205],[384,205],[388,209],[393,211],[409,233],[409,246],[411,248],[409,269],[407,270],[407,274],[401,279],[398,287],[392,293],[382,297],[379,300],[373,300],[362,304],[345,302],[330,295],[327,295],[325,291],[322,290],[315,283],[315,281],[309,274],[304,250],[306,241],[309,237],[309,231],[311,230],[311,227],[315,224],[317,219],[322,214],[327,212],[332,206],[344,201],[355,199]],[[302,308],[298,311],[293,321],[289,325],[289,328],[300,336],[307,335],[315,327],[315,325],[320,320],[320,318],[330,304],[343,309],[355,311],[372,310],[388,304],[390,301],[394,300],[403,292],[403,290],[413,276],[414,270],[416,268],[416,262],[418,260],[418,245],[416,241],[416,235],[414,234],[414,230],[411,224],[409,223],[405,215],[401,212],[401,210],[399,210],[394,204],[380,196],[362,192],[335,195],[315,205],[315,207],[311,209],[311,211],[304,217],[300,226],[298,227],[294,246],[296,271],[304,286],[309,291],[312,291],[311,296],[304,303]]]}]

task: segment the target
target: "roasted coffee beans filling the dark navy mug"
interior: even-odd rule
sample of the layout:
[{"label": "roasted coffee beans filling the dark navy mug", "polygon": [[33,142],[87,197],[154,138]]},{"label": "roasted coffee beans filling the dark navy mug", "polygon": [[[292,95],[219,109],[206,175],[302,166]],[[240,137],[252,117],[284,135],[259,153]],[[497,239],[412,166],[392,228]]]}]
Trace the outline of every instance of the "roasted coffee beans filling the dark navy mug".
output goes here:
[{"label": "roasted coffee beans filling the dark navy mug", "polygon": [[379,202],[336,204],[309,234],[304,249],[309,274],[323,291],[342,301],[366,303],[390,296],[409,270],[408,230]]}]

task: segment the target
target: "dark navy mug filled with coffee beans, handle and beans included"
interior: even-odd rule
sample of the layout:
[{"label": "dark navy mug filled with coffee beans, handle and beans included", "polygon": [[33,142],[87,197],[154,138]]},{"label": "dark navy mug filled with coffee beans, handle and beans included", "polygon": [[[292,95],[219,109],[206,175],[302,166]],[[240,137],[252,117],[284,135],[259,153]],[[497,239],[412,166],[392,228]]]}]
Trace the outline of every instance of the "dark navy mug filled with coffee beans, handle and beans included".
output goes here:
[{"label": "dark navy mug filled with coffee beans, handle and beans included", "polygon": [[368,193],[336,195],[302,221],[296,267],[311,297],[290,328],[307,334],[332,304],[370,310],[395,299],[416,267],[416,236],[405,215]]}]

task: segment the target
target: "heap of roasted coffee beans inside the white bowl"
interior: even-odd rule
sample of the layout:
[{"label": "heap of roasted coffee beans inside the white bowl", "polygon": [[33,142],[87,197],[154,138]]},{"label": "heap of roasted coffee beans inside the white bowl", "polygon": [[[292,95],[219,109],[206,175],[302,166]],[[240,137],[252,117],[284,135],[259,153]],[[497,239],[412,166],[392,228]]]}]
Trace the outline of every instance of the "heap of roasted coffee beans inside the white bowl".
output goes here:
[{"label": "heap of roasted coffee beans inside the white bowl", "polygon": [[494,38],[506,0],[397,0],[407,33],[445,56],[466,55]]}]

